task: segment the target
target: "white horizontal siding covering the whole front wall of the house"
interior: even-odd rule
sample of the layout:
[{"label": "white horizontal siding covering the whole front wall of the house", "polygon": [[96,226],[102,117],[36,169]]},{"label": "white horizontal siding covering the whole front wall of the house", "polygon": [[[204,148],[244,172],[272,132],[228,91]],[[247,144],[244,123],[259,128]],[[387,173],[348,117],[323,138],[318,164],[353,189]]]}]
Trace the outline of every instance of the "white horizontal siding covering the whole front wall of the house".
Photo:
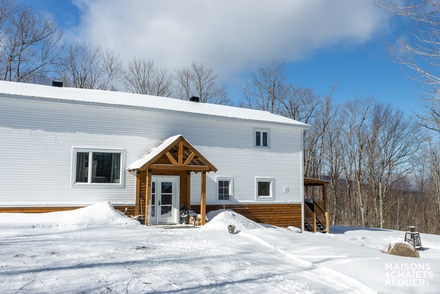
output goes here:
[{"label": "white horizontal siding covering the whole front wall of the house", "polygon": [[[254,147],[255,128],[270,130],[270,148]],[[123,149],[126,167],[176,134],[214,164],[217,175],[234,179],[233,201],[254,202],[255,176],[264,176],[275,179],[274,203],[300,203],[302,130],[176,111],[0,98],[0,206],[134,204],[133,174],[126,174],[124,188],[71,187],[73,148]],[[207,177],[208,204],[217,203],[216,174]],[[199,203],[200,177],[192,179],[192,202]]]}]

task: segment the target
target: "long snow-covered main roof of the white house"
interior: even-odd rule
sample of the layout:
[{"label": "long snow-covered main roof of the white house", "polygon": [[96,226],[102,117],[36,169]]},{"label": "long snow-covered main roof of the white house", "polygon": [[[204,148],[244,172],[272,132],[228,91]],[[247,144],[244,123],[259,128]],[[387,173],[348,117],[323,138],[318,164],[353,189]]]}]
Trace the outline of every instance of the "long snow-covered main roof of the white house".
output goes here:
[{"label": "long snow-covered main roof of the white house", "polygon": [[51,87],[0,81],[0,95],[3,94],[8,96],[65,100],[80,103],[96,103],[161,109],[244,120],[275,122],[294,125],[305,129],[309,128],[307,124],[284,116],[272,114],[267,111],[210,103],[196,103],[180,99],[133,94],[127,92]]}]

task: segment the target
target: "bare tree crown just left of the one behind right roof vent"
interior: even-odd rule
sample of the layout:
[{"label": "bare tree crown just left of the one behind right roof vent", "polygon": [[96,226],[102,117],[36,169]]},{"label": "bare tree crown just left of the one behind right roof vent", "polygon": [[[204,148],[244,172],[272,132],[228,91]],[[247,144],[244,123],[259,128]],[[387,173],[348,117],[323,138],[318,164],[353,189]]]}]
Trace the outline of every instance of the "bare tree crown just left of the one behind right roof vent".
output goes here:
[{"label": "bare tree crown just left of the one behind right roof vent", "polygon": [[124,72],[123,82],[132,93],[169,97],[173,92],[171,75],[152,60],[134,58]]}]

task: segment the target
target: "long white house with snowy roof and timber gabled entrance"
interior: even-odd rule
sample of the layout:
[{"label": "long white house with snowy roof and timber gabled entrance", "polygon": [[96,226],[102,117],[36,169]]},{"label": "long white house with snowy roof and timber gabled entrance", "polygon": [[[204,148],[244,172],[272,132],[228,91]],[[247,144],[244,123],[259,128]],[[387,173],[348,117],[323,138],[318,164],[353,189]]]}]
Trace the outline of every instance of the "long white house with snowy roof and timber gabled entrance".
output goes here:
[{"label": "long white house with snowy roof and timber gabled entrance", "polygon": [[1,81],[0,212],[109,201],[178,223],[185,204],[302,227],[307,128],[265,111]]}]

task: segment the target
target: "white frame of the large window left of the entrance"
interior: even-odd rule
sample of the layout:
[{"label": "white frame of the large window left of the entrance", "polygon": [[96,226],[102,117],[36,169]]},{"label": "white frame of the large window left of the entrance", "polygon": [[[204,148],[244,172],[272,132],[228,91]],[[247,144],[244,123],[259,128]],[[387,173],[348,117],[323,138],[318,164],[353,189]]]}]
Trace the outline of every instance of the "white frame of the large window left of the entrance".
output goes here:
[{"label": "white frame of the large window left of the entrance", "polygon": [[[120,156],[120,175],[119,183],[92,183],[91,174],[88,175],[88,181],[77,182],[76,181],[76,169],[77,169],[77,156],[78,153],[89,153],[89,169],[93,164],[93,153],[119,153]],[[105,149],[105,148],[84,148],[73,147],[72,149],[72,174],[71,174],[71,187],[87,187],[87,188],[123,188],[125,185],[125,150],[124,149]]]}]

